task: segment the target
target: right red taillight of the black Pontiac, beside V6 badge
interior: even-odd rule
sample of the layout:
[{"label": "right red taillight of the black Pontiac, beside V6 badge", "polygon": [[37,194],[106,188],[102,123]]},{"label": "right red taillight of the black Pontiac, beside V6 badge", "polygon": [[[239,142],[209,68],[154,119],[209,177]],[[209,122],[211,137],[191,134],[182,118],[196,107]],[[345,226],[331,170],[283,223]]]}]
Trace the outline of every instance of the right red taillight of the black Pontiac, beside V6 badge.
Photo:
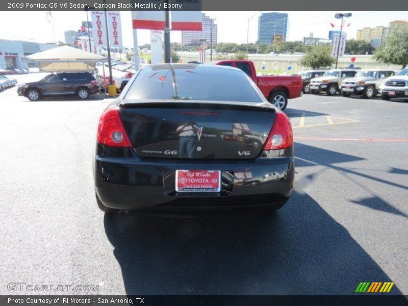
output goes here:
[{"label": "right red taillight of the black Pontiac, beside V6 badge", "polygon": [[275,122],[264,144],[264,150],[286,149],[293,144],[292,125],[289,118],[281,112],[276,113]]}]

